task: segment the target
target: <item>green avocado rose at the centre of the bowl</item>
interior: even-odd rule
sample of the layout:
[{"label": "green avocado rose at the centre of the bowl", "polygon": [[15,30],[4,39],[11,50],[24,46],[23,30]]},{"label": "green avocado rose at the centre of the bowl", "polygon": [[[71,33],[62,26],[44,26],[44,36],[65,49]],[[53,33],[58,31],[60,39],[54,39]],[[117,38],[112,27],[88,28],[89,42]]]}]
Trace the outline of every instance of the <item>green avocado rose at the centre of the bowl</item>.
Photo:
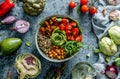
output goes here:
[{"label": "green avocado rose at the centre of the bowl", "polygon": [[61,46],[63,45],[66,40],[66,34],[64,31],[61,31],[59,28],[56,28],[51,35],[51,41],[54,45]]}]

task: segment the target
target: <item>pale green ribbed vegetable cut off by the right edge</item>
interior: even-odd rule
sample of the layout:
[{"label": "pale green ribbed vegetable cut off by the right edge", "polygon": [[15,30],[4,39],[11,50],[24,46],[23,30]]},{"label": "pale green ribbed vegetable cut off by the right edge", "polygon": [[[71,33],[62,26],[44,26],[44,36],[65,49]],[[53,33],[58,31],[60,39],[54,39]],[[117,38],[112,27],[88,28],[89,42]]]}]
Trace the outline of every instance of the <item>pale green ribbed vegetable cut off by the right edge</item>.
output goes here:
[{"label": "pale green ribbed vegetable cut off by the right edge", "polygon": [[111,39],[116,43],[120,44],[120,27],[119,26],[113,26],[108,30],[109,36]]}]

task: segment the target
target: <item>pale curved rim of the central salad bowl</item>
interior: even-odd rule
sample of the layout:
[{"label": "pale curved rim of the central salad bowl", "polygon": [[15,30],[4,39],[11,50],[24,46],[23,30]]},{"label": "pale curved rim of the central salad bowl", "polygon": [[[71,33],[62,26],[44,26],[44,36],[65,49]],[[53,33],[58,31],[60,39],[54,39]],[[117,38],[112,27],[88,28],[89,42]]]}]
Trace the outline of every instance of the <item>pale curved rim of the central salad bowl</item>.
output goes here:
[{"label": "pale curved rim of the central salad bowl", "polygon": [[[45,20],[49,20],[49,19],[50,19],[51,17],[53,17],[53,16],[55,16],[55,17],[61,17],[61,18],[62,18],[62,17],[66,17],[66,18],[68,18],[68,19],[71,19],[71,20],[75,21],[75,22],[77,23],[78,28],[79,28],[80,31],[81,31],[81,34],[82,34],[82,30],[81,30],[81,28],[80,28],[79,23],[78,23],[76,20],[70,18],[69,16],[65,16],[65,15],[52,15],[52,16],[48,16],[48,17],[44,18],[43,20],[41,20],[41,21],[40,21],[40,24],[41,24],[43,21],[45,21]],[[51,62],[65,62],[65,61],[68,61],[68,60],[72,59],[72,58],[79,52],[79,51],[78,51],[78,52],[76,52],[74,55],[72,55],[72,56],[70,56],[70,57],[67,57],[67,58],[64,58],[64,59],[61,59],[61,60],[53,59],[53,58],[48,57],[48,56],[40,49],[40,47],[39,47],[39,45],[38,45],[38,40],[37,40],[37,39],[38,39],[39,29],[40,29],[40,25],[39,25],[39,27],[37,28],[37,31],[36,31],[35,44],[36,44],[36,47],[37,47],[38,52],[40,53],[40,55],[42,55],[43,58],[45,58],[45,59],[47,59],[47,60],[49,60],[49,61],[51,61]]]}]

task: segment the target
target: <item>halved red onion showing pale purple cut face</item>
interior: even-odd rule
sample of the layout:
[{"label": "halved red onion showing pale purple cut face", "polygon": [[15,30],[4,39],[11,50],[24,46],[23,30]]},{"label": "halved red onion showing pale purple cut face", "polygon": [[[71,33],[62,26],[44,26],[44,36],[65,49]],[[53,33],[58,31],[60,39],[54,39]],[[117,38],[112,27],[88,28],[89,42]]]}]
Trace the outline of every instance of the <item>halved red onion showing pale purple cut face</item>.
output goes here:
[{"label": "halved red onion showing pale purple cut face", "polygon": [[11,30],[16,30],[19,33],[26,33],[30,28],[30,23],[25,20],[18,20],[15,22],[15,27],[11,28]]}]

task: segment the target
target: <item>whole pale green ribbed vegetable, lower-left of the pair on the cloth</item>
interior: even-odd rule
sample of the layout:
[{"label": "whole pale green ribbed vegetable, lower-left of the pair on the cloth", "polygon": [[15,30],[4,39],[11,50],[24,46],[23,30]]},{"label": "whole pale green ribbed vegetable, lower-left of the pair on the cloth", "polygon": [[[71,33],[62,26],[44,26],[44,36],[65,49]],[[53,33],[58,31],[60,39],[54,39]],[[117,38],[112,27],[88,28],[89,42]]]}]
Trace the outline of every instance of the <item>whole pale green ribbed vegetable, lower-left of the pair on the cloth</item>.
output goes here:
[{"label": "whole pale green ribbed vegetable, lower-left of the pair on the cloth", "polygon": [[112,56],[117,52],[117,46],[109,37],[103,37],[99,42],[100,51],[107,56]]}]

